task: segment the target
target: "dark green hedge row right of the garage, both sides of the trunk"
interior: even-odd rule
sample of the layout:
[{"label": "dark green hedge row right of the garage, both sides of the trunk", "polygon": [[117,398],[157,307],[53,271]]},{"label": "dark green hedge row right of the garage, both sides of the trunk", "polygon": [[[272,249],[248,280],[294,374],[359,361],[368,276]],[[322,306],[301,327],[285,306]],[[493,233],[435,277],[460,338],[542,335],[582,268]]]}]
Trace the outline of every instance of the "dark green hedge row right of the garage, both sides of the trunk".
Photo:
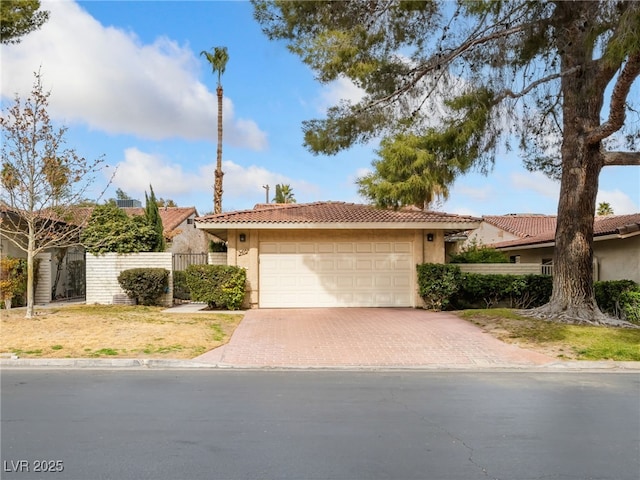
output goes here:
[{"label": "dark green hedge row right of the garage, both sides of the trunk", "polygon": [[[462,273],[457,265],[417,266],[420,296],[432,310],[465,308],[535,308],[551,298],[549,275]],[[632,280],[594,283],[596,302],[605,313],[640,321],[640,285]]]}]

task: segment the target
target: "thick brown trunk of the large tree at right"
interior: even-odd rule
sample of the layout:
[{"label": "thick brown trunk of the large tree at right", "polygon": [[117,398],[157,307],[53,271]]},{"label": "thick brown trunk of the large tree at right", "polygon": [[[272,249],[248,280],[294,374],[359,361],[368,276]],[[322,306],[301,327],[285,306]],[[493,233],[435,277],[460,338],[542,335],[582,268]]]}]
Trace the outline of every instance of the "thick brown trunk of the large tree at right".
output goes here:
[{"label": "thick brown trunk of the large tree at right", "polygon": [[[572,323],[617,323],[602,314],[593,289],[593,219],[598,178],[605,159],[601,142],[587,135],[600,125],[604,88],[600,68],[591,61],[591,34],[585,19],[597,14],[597,2],[559,2],[556,19],[562,69],[562,178],[553,260],[553,293],[535,314]],[[595,10],[594,10],[595,9]]]}]

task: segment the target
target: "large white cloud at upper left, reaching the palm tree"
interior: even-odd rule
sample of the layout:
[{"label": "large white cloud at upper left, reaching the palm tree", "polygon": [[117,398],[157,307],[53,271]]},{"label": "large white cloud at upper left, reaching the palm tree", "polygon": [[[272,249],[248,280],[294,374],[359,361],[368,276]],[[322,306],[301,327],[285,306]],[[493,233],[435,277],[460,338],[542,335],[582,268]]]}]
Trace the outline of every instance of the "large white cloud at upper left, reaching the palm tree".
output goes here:
[{"label": "large white cloud at upper left, reaching the palm tree", "polygon": [[[159,37],[143,44],[134,33],[105,27],[74,2],[43,2],[50,19],[18,45],[2,47],[1,92],[21,97],[41,69],[56,119],[112,134],[215,140],[217,99],[197,79],[200,63],[187,46]],[[261,150],[264,132],[235,118],[223,102],[225,142]]]}]

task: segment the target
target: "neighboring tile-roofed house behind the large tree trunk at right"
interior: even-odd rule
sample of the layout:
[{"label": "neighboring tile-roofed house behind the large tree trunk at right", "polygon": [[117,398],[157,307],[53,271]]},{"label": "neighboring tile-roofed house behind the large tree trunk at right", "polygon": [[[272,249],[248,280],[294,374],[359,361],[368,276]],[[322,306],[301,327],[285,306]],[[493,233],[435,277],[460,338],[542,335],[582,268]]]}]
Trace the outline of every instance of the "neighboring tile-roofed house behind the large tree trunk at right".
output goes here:
[{"label": "neighboring tile-roofed house behind the large tree trunk at right", "polygon": [[[512,262],[538,263],[553,272],[556,217],[547,215],[486,216],[468,240],[492,246]],[[629,279],[640,283],[640,213],[594,219],[594,279]]]}]

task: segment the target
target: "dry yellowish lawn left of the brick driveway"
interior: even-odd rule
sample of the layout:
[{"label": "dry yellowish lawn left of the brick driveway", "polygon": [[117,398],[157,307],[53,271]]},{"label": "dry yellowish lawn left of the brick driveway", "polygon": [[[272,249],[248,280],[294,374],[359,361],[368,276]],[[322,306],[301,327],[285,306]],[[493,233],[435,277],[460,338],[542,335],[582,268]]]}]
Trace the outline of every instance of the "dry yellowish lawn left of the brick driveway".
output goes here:
[{"label": "dry yellowish lawn left of the brick driveway", "polygon": [[196,357],[229,341],[242,315],[163,313],[161,307],[69,305],[0,310],[0,353],[22,358]]}]

